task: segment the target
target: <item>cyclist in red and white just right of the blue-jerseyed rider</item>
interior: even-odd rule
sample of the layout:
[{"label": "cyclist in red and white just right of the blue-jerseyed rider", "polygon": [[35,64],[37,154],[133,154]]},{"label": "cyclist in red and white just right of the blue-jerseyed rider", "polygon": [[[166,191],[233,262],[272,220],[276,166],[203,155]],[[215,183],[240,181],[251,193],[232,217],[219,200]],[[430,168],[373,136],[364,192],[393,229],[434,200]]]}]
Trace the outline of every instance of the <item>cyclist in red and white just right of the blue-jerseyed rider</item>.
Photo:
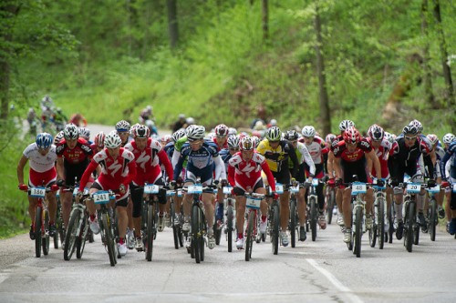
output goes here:
[{"label": "cyclist in red and white just right of the blue-jerseyed rider", "polygon": [[[233,186],[233,195],[236,198],[236,226],[237,240],[236,247],[242,249],[244,247],[244,214],[245,214],[245,192],[266,194],[263,178],[261,177],[262,170],[267,177],[268,183],[273,192],[275,192],[274,176],[267,165],[264,156],[258,154],[254,150],[254,140],[250,136],[244,136],[239,143],[241,152],[233,155],[228,164],[228,180]],[[266,232],[267,225],[267,204],[265,201],[261,203],[261,223],[260,232]]]}]

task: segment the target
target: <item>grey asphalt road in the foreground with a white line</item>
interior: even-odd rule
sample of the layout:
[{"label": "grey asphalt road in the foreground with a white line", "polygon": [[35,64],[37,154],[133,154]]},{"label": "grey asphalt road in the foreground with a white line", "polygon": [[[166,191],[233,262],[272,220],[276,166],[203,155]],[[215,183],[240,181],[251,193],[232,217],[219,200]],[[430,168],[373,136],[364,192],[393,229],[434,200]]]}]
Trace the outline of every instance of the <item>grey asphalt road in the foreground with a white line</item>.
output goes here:
[{"label": "grey asphalt road in the foreground with a white line", "polygon": [[88,244],[81,259],[63,259],[51,247],[46,257],[34,257],[27,235],[0,241],[1,302],[451,302],[456,298],[456,240],[439,231],[437,240],[420,235],[420,245],[408,253],[394,239],[383,250],[363,237],[361,258],[342,242],[339,227],[320,231],[316,242],[279,247],[272,254],[266,242],[254,244],[253,259],[244,250],[227,252],[206,247],[196,264],[185,249],[173,247],[172,230],[159,233],[151,262],[130,250],[111,268],[105,248]]}]

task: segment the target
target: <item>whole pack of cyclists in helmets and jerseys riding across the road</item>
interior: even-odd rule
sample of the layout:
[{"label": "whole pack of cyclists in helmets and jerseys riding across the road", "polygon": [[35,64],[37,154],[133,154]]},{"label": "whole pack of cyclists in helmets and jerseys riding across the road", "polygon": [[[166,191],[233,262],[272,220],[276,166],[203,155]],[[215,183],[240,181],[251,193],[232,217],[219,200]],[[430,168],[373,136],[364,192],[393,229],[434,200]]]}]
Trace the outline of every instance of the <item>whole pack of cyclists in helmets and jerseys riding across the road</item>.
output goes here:
[{"label": "whole pack of cyclists in helmets and jerseys riding across the road", "polygon": [[[447,217],[447,230],[456,232],[456,138],[452,134],[443,137],[443,145],[435,135],[424,136],[419,121],[413,120],[395,136],[381,126],[368,128],[361,136],[350,120],[339,124],[340,134],[328,134],[325,139],[318,135],[314,126],[304,126],[301,133],[295,130],[282,132],[278,126],[269,126],[264,137],[254,132],[238,134],[236,129],[223,124],[207,133],[204,126],[191,124],[176,130],[171,136],[161,138],[150,134],[150,127],[136,124],[130,126],[119,121],[115,129],[103,132],[89,140],[87,127],[67,124],[55,138],[47,133],[36,136],[36,142],[24,150],[17,166],[19,189],[47,187],[47,202],[50,215],[48,233],[56,233],[56,191],[59,189],[62,217],[67,227],[73,201],[73,189],[79,193],[89,188],[89,194],[98,190],[117,193],[116,213],[119,219],[119,254],[124,256],[128,249],[142,251],[140,230],[141,203],[144,185],[168,185],[171,188],[188,187],[201,182],[202,186],[218,185],[232,187],[231,195],[236,201],[236,247],[244,248],[245,193],[269,194],[261,203],[260,232],[266,233],[267,208],[272,199],[280,205],[280,242],[288,246],[288,223],[290,218],[290,186],[310,183],[313,178],[326,180],[316,187],[318,202],[318,225],[326,228],[326,187],[336,188],[337,224],[344,233],[343,240],[350,242],[351,189],[354,181],[386,184],[387,209],[394,203],[396,214],[393,227],[396,237],[403,233],[403,189],[399,187],[405,175],[414,182],[428,187],[440,185],[437,197],[440,218]],[[450,161],[449,161],[450,160]],[[28,185],[24,180],[24,167],[30,163]],[[276,185],[283,191],[276,193]],[[299,187],[295,194],[299,218],[300,241],[306,240],[306,187]],[[446,196],[445,209],[442,203]],[[80,195],[78,195],[80,198]],[[77,200],[78,200],[77,197]],[[424,229],[426,217],[423,208],[426,195],[421,191],[417,197],[420,225]],[[202,205],[207,220],[207,245],[215,247],[214,228],[223,226],[224,194],[219,190],[202,193]],[[34,220],[36,198],[28,197],[29,214]],[[366,193],[366,227],[372,227],[374,191]],[[160,214],[158,230],[170,225],[169,201],[159,195]],[[90,229],[98,234],[96,205],[90,196],[86,199]],[[191,229],[192,195],[176,197],[175,222],[183,222],[181,229]],[[181,211],[182,208],[182,211]],[[392,211],[392,210],[391,210]],[[182,214],[182,215],[181,215]],[[180,217],[183,216],[183,217]],[[181,220],[182,219],[182,220]],[[35,237],[34,224],[30,237]]]}]

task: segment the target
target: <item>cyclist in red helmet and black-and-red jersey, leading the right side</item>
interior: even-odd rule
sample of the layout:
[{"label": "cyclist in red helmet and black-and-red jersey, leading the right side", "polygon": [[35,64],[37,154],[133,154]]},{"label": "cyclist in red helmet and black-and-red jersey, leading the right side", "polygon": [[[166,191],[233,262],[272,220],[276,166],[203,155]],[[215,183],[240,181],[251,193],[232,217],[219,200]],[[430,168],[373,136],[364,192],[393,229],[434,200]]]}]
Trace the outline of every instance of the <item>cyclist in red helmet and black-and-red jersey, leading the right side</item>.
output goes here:
[{"label": "cyclist in red helmet and black-and-red jersey, leading the right side", "polygon": [[[375,151],[372,149],[372,146],[368,143],[366,138],[362,137],[358,129],[354,126],[348,127],[344,131],[343,140],[337,142],[337,145],[334,146],[333,152],[336,160],[334,161],[334,169],[337,173],[337,185],[341,185],[343,182],[344,185],[341,185],[339,189],[344,190],[342,197],[342,207],[344,213],[344,222],[346,226],[346,231],[344,234],[344,242],[349,243],[351,241],[351,222],[352,211],[351,211],[351,188],[345,188],[345,184],[356,181],[354,176],[358,176],[359,182],[368,183],[370,182],[370,177],[367,174],[367,163],[366,160],[372,161],[377,178],[378,186],[384,184],[381,180],[381,167],[378,157],[375,154]],[[344,189],[345,188],[345,189]],[[366,228],[372,228],[372,205],[374,203],[374,192],[372,188],[368,188],[366,194]]]}]

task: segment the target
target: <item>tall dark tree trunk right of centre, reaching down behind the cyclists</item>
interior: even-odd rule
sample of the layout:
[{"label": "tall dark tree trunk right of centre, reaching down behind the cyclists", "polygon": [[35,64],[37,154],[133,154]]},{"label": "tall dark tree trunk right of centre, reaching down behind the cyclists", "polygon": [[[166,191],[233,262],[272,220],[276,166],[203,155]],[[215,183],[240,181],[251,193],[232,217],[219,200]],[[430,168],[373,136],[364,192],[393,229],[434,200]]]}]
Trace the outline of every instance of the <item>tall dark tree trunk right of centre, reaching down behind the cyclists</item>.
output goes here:
[{"label": "tall dark tree trunk right of centre, reaching down behind the cyclists", "polygon": [[320,118],[324,134],[331,133],[331,116],[329,115],[329,99],[326,89],[325,62],[321,52],[323,38],[321,36],[321,20],[316,4],[315,13],[315,31],[316,31],[316,74],[318,75],[319,101],[320,101]]}]

